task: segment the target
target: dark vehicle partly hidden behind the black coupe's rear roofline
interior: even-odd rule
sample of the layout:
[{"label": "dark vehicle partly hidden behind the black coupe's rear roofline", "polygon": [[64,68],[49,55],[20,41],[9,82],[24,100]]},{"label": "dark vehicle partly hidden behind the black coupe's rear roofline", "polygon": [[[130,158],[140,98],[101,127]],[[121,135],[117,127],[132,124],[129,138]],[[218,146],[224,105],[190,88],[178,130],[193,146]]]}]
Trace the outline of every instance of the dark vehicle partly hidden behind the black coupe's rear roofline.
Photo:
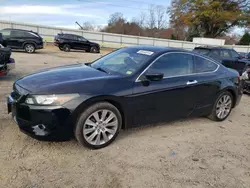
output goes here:
[{"label": "dark vehicle partly hidden behind the black coupe's rear roofline", "polygon": [[237,70],[240,75],[250,67],[250,61],[242,59],[234,49],[202,46],[196,47],[194,51],[219,60],[224,66]]}]

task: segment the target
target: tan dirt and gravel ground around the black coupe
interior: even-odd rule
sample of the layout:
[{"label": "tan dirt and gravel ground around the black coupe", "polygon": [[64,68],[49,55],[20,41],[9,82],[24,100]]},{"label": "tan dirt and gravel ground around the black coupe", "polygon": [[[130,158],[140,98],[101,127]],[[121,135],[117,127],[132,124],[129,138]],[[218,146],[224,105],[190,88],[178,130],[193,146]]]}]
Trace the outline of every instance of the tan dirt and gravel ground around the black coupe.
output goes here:
[{"label": "tan dirt and gravel ground around the black coupe", "polygon": [[21,133],[6,113],[14,80],[100,54],[50,47],[12,56],[16,69],[0,78],[1,188],[250,187],[250,96],[224,122],[196,118],[130,129],[101,150],[75,140],[39,142]]}]

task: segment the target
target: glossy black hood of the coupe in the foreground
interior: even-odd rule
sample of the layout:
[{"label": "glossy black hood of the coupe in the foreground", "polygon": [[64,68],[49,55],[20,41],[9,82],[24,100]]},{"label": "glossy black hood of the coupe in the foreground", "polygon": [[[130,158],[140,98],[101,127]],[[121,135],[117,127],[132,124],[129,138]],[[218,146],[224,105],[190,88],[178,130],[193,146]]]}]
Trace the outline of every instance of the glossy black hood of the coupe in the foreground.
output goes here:
[{"label": "glossy black hood of the coupe in the foreground", "polygon": [[32,93],[37,93],[49,92],[50,88],[54,90],[58,86],[68,87],[75,83],[110,77],[117,75],[110,75],[84,64],[76,64],[45,69],[17,80],[16,84]]}]

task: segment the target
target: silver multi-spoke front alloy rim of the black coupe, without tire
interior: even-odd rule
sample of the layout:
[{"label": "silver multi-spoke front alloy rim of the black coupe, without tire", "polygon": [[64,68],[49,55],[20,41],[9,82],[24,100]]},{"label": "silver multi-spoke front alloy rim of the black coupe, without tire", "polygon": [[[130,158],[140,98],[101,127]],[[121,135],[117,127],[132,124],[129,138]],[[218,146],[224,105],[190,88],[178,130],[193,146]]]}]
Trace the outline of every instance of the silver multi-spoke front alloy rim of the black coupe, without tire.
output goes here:
[{"label": "silver multi-spoke front alloy rim of the black coupe, without tire", "polygon": [[98,110],[85,121],[83,136],[89,144],[99,146],[110,141],[117,130],[117,116],[110,110]]}]

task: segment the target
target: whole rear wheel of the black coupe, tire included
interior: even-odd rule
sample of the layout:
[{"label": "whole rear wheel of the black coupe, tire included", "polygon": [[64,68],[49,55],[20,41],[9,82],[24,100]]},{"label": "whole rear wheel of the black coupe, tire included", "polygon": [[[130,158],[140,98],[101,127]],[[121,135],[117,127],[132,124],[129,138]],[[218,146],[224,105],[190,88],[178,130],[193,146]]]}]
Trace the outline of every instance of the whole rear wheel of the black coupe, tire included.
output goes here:
[{"label": "whole rear wheel of the black coupe, tire included", "polygon": [[208,116],[213,121],[224,121],[230,115],[233,108],[233,96],[230,92],[222,92],[213,107],[211,114]]}]

